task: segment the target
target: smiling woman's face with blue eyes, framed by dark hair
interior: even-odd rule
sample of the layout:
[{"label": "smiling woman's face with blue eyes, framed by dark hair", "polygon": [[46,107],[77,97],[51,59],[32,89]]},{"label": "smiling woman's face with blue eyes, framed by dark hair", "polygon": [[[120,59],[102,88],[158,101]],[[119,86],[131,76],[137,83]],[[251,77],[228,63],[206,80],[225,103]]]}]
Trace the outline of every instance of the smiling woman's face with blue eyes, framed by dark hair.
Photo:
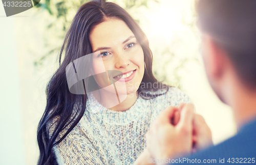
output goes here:
[{"label": "smiling woman's face with blue eyes, framed by dark hair", "polygon": [[[91,31],[90,42],[93,52],[100,51],[93,55],[92,74],[106,70],[109,81],[116,82],[118,93],[136,92],[144,75],[144,53],[126,23],[117,18],[106,19]],[[99,86],[108,81],[104,76],[94,78]]]}]

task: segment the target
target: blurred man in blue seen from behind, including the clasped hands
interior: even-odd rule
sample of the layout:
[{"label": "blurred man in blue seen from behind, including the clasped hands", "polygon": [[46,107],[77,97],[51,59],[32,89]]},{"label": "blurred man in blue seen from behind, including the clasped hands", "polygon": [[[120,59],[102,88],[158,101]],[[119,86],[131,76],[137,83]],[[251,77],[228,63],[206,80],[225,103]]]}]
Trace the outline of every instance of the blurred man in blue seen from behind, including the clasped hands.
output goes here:
[{"label": "blurred man in blue seen from behind, including the clasped hands", "polygon": [[[218,97],[232,107],[239,131],[208,147],[210,131],[193,113],[193,105],[169,107],[147,133],[150,161],[256,164],[256,1],[199,0],[197,12],[208,80]],[[174,125],[170,119],[176,111],[181,114]]]}]

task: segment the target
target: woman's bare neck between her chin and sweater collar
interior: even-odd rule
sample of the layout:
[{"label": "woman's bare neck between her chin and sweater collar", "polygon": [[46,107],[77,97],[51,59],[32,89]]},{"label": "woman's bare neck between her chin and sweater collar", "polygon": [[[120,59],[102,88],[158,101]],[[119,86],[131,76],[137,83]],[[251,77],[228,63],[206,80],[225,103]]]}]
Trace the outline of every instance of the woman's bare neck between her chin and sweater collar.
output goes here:
[{"label": "woman's bare neck between her chin and sweater collar", "polygon": [[[120,103],[118,103],[114,99],[111,99],[111,98],[117,97],[116,93],[93,92],[93,95],[102,106],[105,106],[106,104],[108,104],[107,106],[105,106],[106,108],[109,108],[112,111],[119,111],[119,112],[126,111],[127,109],[132,107],[138,98],[137,92],[130,95],[122,95],[122,96],[120,96],[119,94],[119,98],[121,97],[126,97],[126,98]],[[108,107],[111,104],[113,104],[114,106]]]}]

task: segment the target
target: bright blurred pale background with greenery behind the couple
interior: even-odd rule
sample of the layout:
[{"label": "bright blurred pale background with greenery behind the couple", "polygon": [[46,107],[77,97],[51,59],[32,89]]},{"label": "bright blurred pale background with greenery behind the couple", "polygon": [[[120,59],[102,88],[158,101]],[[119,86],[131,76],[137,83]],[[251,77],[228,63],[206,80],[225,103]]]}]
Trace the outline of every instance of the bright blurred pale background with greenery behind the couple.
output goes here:
[{"label": "bright blurred pale background with greenery behind the couple", "polygon": [[[0,4],[0,164],[36,164],[45,89],[77,9],[88,1],[45,0],[6,17]],[[237,131],[229,106],[211,90],[200,56],[194,0],[116,0],[150,41],[159,81],[185,91],[218,144]]]}]

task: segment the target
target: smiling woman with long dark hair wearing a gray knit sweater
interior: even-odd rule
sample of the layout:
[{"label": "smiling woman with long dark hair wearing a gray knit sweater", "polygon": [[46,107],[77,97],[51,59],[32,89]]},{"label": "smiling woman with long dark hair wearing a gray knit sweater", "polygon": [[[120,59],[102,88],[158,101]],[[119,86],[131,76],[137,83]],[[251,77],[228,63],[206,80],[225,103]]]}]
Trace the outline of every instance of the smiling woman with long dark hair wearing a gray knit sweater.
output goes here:
[{"label": "smiling woman with long dark hair wearing a gray knit sweater", "polygon": [[[77,61],[83,57],[89,58]],[[104,1],[81,6],[47,87],[37,131],[38,164],[133,164],[141,153],[146,163],[144,135],[151,123],[167,106],[189,100],[156,80],[152,61],[145,34],[125,10]],[[85,88],[81,92],[74,90],[75,83],[70,85],[68,73],[78,80],[77,68],[83,66],[88,67],[80,79]],[[91,81],[86,77],[93,78],[97,89],[88,88]]]}]

